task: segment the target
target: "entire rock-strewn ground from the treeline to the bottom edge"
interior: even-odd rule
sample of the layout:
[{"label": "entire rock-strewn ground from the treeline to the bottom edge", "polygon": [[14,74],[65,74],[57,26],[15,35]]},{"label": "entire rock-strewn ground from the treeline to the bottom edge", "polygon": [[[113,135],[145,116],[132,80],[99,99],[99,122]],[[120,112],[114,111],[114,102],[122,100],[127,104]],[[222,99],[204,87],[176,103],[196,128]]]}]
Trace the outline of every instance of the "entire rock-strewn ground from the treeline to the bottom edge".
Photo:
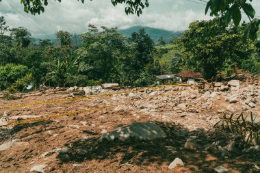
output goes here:
[{"label": "entire rock-strewn ground from the treeline to the bottom edge", "polygon": [[[258,79],[252,83],[235,80],[209,83],[200,89],[191,86],[166,86],[139,92],[140,88],[94,89],[70,88],[68,92],[83,90],[86,94],[108,96],[0,109],[1,126],[86,110],[0,127],[0,172],[260,172],[257,140],[244,144],[235,134],[213,127],[224,114],[237,117],[242,112],[244,116],[250,115],[251,111],[255,123],[259,123]],[[0,107],[71,96],[79,97],[47,93],[14,101],[1,99]],[[111,107],[88,111],[104,105]],[[139,129],[130,133],[135,131],[133,122],[145,125],[142,130],[148,131],[146,137],[140,137]],[[150,129],[155,135],[146,129],[150,128],[146,122],[158,126]],[[110,139],[112,133],[119,131],[114,131],[118,127],[130,130],[120,129],[123,139]],[[107,135],[110,138],[103,139]]]}]

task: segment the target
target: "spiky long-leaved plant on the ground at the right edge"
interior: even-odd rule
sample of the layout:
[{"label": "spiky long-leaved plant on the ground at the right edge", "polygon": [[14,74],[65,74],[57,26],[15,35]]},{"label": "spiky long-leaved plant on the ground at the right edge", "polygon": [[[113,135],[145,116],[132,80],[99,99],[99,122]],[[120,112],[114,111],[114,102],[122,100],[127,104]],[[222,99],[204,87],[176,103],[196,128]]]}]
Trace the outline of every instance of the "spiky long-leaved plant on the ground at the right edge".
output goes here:
[{"label": "spiky long-leaved plant on the ground at the right edge", "polygon": [[221,127],[223,130],[239,135],[248,144],[252,143],[254,139],[257,142],[260,141],[260,124],[255,123],[252,112],[250,113],[250,121],[247,120],[247,116],[244,117],[243,113],[237,118],[233,118],[233,116],[234,114],[231,114],[231,116],[224,114],[214,127]]}]

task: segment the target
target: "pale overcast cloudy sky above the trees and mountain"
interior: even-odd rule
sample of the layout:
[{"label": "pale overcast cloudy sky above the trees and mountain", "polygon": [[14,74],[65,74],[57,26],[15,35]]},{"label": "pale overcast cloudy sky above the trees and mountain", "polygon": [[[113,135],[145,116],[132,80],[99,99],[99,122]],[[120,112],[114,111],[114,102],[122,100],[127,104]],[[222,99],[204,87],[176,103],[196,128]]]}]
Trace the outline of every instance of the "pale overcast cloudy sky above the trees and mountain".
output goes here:
[{"label": "pale overcast cloudy sky above the trees and mountain", "polygon": [[[127,16],[125,5],[114,7],[109,0],[86,0],[84,4],[77,0],[62,0],[62,3],[49,0],[45,12],[33,16],[23,12],[20,0],[3,0],[0,2],[0,16],[5,16],[11,27],[26,27],[36,38],[41,38],[44,34],[54,34],[61,29],[72,34],[80,34],[87,31],[89,23],[120,29],[142,25],[181,31],[187,29],[192,21],[210,18],[209,15],[205,15],[205,5],[200,4],[203,2],[199,0],[150,0],[149,2],[150,6],[138,17]],[[260,1],[254,0],[253,6],[259,15]]]}]

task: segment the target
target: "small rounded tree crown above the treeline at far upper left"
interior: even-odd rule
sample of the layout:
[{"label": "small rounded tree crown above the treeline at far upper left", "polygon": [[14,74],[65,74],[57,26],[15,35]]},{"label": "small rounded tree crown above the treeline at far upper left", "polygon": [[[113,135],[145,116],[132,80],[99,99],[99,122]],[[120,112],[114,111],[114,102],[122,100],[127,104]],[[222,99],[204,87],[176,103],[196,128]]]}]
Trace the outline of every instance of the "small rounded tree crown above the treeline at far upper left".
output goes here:
[{"label": "small rounded tree crown above the treeline at far upper left", "polygon": [[31,34],[24,27],[12,29],[11,36],[14,38],[16,46],[27,47],[31,43]]}]

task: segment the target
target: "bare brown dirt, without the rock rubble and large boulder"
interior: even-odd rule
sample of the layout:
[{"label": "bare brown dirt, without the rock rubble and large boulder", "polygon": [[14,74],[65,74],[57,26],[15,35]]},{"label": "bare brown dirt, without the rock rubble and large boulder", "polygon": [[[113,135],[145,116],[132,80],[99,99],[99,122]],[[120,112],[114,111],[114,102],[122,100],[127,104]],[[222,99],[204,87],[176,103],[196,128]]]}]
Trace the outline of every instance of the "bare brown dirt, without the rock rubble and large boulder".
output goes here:
[{"label": "bare brown dirt, without the rock rubble and large boulder", "polygon": [[[141,94],[142,98],[148,96],[145,92]],[[0,100],[0,106],[53,101],[63,98],[64,95],[43,94],[14,101]],[[178,94],[172,94],[172,97],[175,95]],[[134,105],[140,99],[129,96],[118,96],[118,99],[113,97],[115,96],[0,109],[0,115],[8,111],[12,116],[46,117],[100,107],[104,104],[131,101],[128,105]],[[218,116],[216,109],[224,107],[223,104],[226,104],[224,98],[192,118],[175,115],[174,106],[157,108],[158,112],[167,113],[166,118],[166,114],[149,115],[140,109],[125,109],[124,106],[127,105],[122,105],[120,109],[110,107],[51,120],[18,124],[14,127],[1,127],[0,145],[10,141],[25,144],[0,151],[0,172],[30,172],[34,165],[42,164],[46,165],[44,172],[214,172],[213,168],[219,165],[228,168],[229,172],[254,172],[253,163],[259,164],[260,161],[259,157],[253,154],[223,158],[220,152],[205,149],[213,142],[225,143],[229,138],[213,129],[213,123],[209,123],[209,119]],[[131,122],[155,122],[167,137],[153,141],[128,139],[124,142],[98,142],[102,133]],[[196,128],[191,130],[189,127],[192,125]],[[198,138],[196,151],[184,148],[190,136]],[[169,170],[168,165],[177,157],[185,165]]]}]

